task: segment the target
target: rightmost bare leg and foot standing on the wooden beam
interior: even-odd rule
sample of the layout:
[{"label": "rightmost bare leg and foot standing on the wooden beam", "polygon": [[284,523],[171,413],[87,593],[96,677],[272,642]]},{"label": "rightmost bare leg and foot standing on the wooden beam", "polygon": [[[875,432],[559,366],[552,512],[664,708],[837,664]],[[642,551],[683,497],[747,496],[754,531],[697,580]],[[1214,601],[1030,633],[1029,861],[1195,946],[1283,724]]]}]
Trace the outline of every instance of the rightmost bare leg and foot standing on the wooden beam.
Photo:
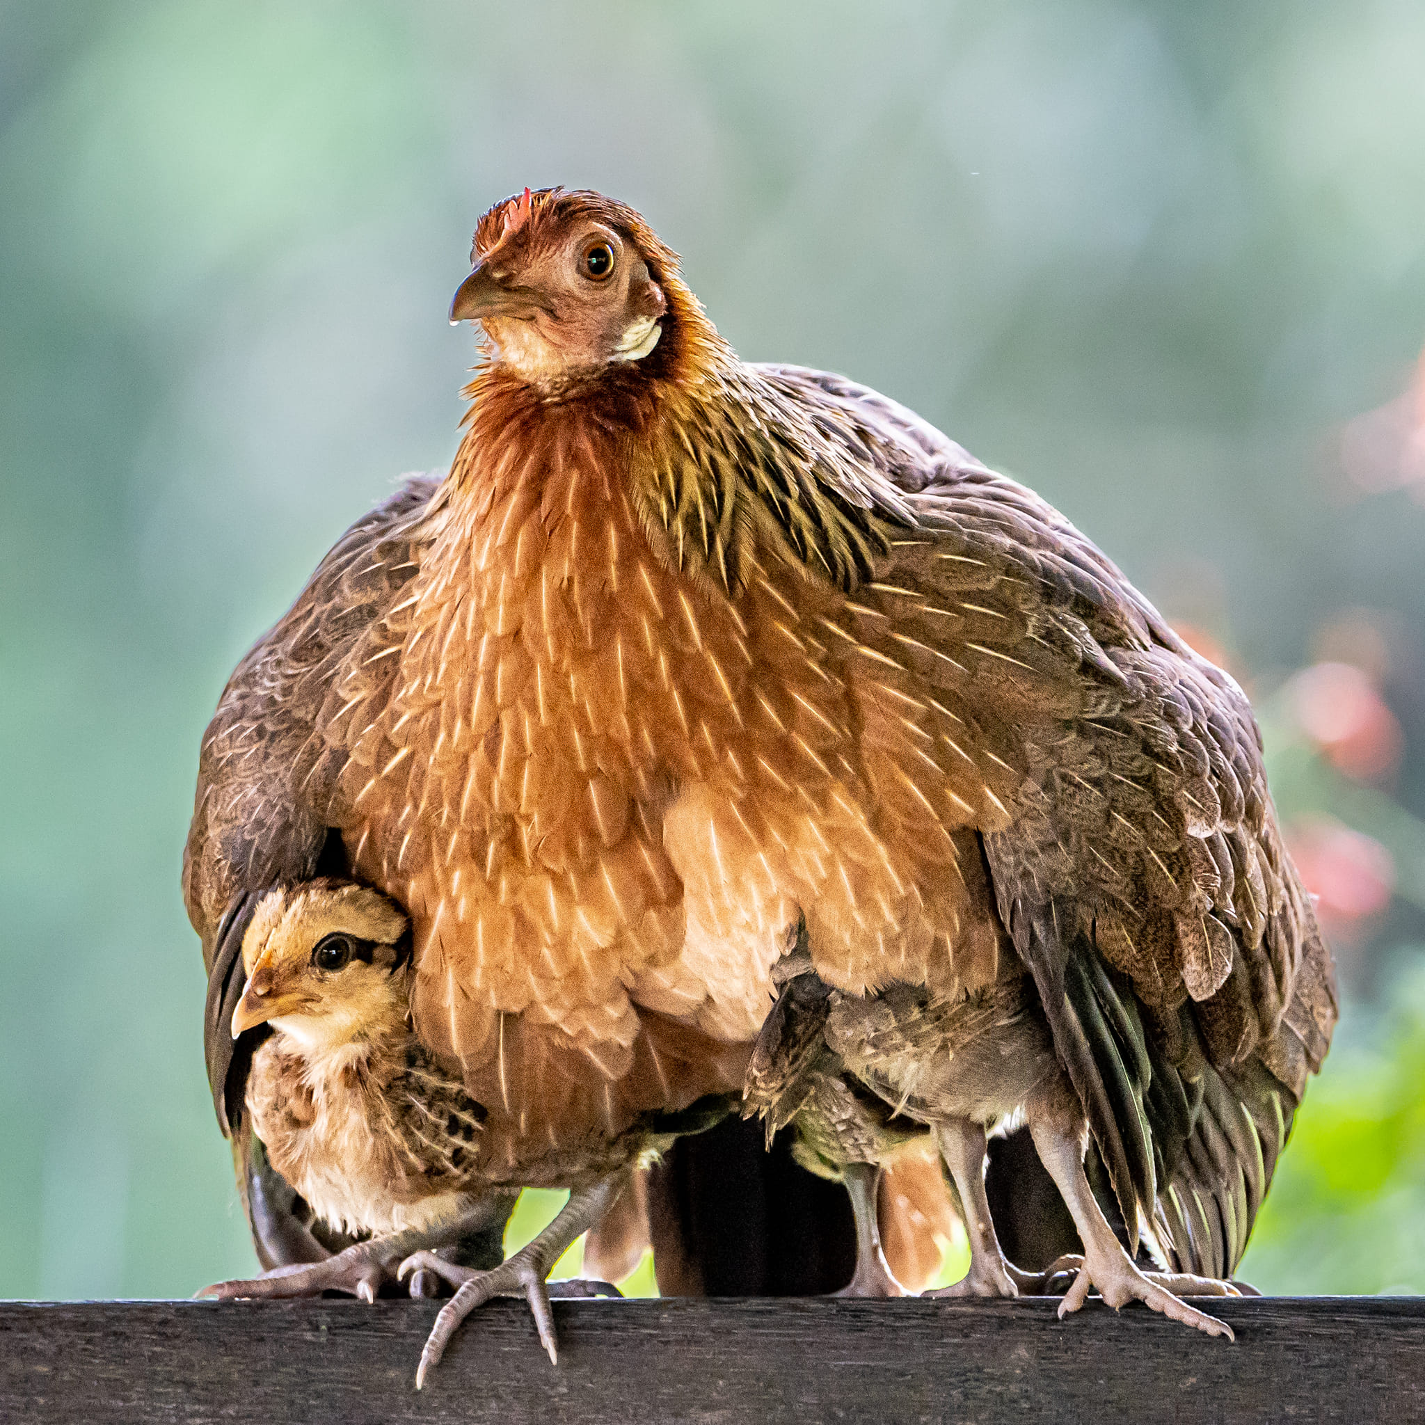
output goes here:
[{"label": "rightmost bare leg and foot standing on the wooden beam", "polygon": [[1206,1277],[1140,1271],[1133,1258],[1123,1250],[1119,1238],[1113,1235],[1113,1228],[1089,1190],[1089,1178],[1083,1171],[1082,1130],[1066,1131],[1052,1116],[1032,1117],[1029,1129],[1035,1137],[1035,1147],[1039,1150],[1045,1167],[1049,1168],[1049,1176],[1053,1177],[1064,1203],[1069,1204],[1074,1227],[1079,1228],[1079,1237],[1083,1241],[1083,1265],[1059,1307],[1059,1315],[1064,1317],[1070,1311],[1077,1311],[1092,1287],[1114,1311],[1129,1301],[1141,1301],[1146,1307],[1161,1311],[1163,1315],[1171,1317],[1174,1321],[1196,1327],[1208,1335],[1224,1335],[1231,1341],[1233,1330],[1226,1321],[1197,1311],[1186,1301],[1178,1300],[1176,1292],[1198,1297],[1230,1297],[1237,1295],[1237,1290],[1226,1281],[1211,1281]]}]

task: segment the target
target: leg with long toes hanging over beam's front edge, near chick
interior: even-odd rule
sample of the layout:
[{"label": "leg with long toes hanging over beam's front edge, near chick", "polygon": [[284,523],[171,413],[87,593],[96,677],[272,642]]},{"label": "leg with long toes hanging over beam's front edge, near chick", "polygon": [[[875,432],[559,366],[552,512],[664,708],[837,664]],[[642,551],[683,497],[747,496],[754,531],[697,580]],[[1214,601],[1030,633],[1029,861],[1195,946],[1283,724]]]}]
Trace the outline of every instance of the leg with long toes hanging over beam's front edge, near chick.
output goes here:
[{"label": "leg with long toes hanging over beam's front edge, near chick", "polygon": [[[435,1273],[443,1281],[456,1288],[456,1294],[440,1308],[436,1324],[430,1328],[426,1348],[420,1352],[420,1365],[416,1369],[416,1389],[419,1391],[426,1375],[445,1355],[446,1344],[455,1334],[455,1328],[476,1308],[484,1305],[492,1297],[523,1295],[530,1304],[534,1325],[539,1328],[539,1338],[549,1352],[550,1361],[559,1361],[559,1349],[554,1341],[554,1312],[549,1304],[549,1285],[546,1278],[554,1270],[554,1263],[567,1251],[573,1240],[597,1223],[604,1213],[613,1207],[614,1198],[627,1186],[628,1174],[618,1173],[604,1178],[594,1187],[580,1188],[570,1193],[569,1201],[560,1214],[536,1237],[529,1245],[522,1247],[513,1257],[506,1258],[492,1271],[470,1271],[466,1267],[456,1267],[453,1263],[437,1257],[432,1251],[418,1251],[400,1264],[400,1278],[405,1280],[412,1271],[426,1270]],[[574,1282],[580,1295],[596,1295],[607,1292],[617,1295],[614,1287],[604,1282]]]}]

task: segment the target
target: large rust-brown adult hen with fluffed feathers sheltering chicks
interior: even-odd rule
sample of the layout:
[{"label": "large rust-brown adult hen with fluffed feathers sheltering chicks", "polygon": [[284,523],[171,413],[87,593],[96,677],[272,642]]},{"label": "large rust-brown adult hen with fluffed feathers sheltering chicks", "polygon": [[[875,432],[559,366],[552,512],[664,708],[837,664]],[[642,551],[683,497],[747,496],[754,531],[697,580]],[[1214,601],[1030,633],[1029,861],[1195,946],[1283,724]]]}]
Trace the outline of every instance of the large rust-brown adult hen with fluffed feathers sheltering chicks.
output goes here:
[{"label": "large rust-brown adult hen with fluffed feathers sheltering chicks", "polygon": [[[409,908],[416,1033],[510,1181],[725,1089],[799,922],[848,1002],[1003,983],[1047,1037],[996,1112],[1040,1094],[1083,1285],[1161,1304],[1089,1133],[1136,1241],[1203,1066],[1300,1096],[1335,1017],[1240,690],[911,412],[741,362],[623,204],[526,191],[475,259],[450,475],[326,566],[403,587],[311,644],[304,596],[205,738],[195,923],[335,845]],[[235,771],[274,740],[295,809]]]}]

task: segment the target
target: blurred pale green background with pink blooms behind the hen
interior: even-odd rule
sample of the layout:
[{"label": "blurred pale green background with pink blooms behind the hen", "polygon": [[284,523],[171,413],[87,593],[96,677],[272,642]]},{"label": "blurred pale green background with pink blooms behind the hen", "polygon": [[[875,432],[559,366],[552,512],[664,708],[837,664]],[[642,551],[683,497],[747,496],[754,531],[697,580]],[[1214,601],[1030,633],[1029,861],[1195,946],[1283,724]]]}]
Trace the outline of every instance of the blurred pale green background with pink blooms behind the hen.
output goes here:
[{"label": "blurred pale green background with pink blooms behind the hen", "polygon": [[480,212],[1020,476],[1250,687],[1345,1012],[1244,1273],[1425,1288],[1425,7],[0,3],[0,1295],[252,1257],[178,865],[247,646],[449,460]]}]

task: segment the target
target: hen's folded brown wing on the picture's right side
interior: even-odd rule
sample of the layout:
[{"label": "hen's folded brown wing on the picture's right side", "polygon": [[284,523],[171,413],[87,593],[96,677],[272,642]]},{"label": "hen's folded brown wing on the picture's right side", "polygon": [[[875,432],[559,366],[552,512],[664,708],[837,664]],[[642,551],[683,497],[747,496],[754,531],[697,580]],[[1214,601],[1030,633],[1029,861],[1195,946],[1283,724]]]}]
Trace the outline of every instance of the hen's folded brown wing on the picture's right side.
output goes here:
[{"label": "hen's folded brown wing on the picture's right side", "polygon": [[[884,604],[855,630],[918,691],[972,714],[956,751],[983,781],[970,815],[998,911],[1136,1240],[1139,1211],[1151,1217],[1201,1144],[1204,1070],[1241,1103],[1250,1090],[1231,1072],[1292,1057],[1300,1094],[1335,1019],[1324,950],[1295,996],[1320,933],[1247,700],[1030,490],[875,392],[762,373],[871,459],[856,492],[879,480],[912,512],[868,586]],[[839,466],[821,479],[838,482]],[[1288,1005],[1304,1023],[1282,1032]],[[1226,1181],[1230,1159],[1255,1150],[1243,1134],[1221,1141]]]}]

